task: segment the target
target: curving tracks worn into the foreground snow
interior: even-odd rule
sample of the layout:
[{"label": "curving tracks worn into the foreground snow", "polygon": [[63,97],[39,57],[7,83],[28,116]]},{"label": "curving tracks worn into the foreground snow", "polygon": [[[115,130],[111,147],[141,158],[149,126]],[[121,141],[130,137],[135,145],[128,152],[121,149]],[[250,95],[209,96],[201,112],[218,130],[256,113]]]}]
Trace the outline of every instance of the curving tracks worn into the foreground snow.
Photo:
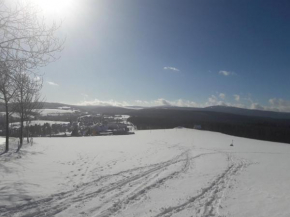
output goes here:
[{"label": "curving tracks worn into the foreground snow", "polygon": [[[159,188],[167,181],[174,181],[182,174],[188,173],[190,165],[196,159],[215,154],[226,155],[227,168],[200,189],[196,195],[192,195],[176,206],[163,208],[153,216],[175,216],[186,210],[190,210],[198,217],[221,216],[219,208],[225,191],[230,189],[232,179],[249,163],[236,159],[227,152],[216,150],[207,150],[206,153],[192,156],[190,149],[165,162],[135,167],[86,182],[89,172],[96,166],[96,156],[91,162],[84,161],[84,169],[80,170],[82,182],[76,184],[74,189],[14,207],[0,206],[0,216],[54,216],[63,211],[70,211],[74,213],[74,216],[118,215],[134,203],[146,200],[147,193],[152,189]],[[80,159],[83,157],[80,156]],[[97,206],[90,206],[86,209],[86,204],[94,203],[94,201],[98,201]]]}]

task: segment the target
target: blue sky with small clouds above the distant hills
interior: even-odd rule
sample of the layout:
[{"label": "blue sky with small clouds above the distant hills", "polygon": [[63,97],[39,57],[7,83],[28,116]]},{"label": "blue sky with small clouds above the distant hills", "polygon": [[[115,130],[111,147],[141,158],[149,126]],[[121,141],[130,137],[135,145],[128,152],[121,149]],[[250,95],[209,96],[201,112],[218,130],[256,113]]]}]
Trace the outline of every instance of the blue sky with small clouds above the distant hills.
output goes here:
[{"label": "blue sky with small clouds above the distant hills", "polygon": [[65,1],[47,101],[290,111],[290,1]]}]

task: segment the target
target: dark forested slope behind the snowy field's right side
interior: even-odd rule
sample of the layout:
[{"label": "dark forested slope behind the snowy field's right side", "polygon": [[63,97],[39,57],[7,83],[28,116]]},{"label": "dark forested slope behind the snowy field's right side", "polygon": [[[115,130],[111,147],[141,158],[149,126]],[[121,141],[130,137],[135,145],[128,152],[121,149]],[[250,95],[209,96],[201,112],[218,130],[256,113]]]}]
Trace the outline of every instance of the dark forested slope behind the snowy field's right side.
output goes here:
[{"label": "dark forested slope behind the snowy field's right side", "polygon": [[233,136],[290,143],[290,119],[250,117],[219,112],[148,109],[128,119],[138,129],[170,129],[177,126],[221,132]]}]

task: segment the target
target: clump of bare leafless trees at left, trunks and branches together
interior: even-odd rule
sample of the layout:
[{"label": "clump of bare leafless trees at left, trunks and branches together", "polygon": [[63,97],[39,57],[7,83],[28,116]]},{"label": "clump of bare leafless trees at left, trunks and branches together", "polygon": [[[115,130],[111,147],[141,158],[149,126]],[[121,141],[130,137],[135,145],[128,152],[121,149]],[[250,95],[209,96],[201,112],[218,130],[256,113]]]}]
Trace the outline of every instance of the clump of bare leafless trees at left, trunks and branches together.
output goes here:
[{"label": "clump of bare leafless trees at left, trunks and branches together", "polygon": [[41,76],[36,70],[59,59],[65,42],[56,37],[60,26],[48,25],[30,3],[19,1],[12,7],[0,0],[0,101],[6,111],[6,151],[11,111],[21,119],[22,145],[23,122],[41,106],[42,79],[35,79]]}]

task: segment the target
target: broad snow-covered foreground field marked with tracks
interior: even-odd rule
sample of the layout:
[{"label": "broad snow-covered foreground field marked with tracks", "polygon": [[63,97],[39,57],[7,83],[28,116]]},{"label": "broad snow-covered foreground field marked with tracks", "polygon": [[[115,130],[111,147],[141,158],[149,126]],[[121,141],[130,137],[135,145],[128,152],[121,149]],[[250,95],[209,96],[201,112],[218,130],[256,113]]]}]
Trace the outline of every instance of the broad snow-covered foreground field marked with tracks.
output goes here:
[{"label": "broad snow-covered foreground field marked with tracks", "polygon": [[289,217],[289,171],[288,144],[206,131],[35,138],[0,156],[0,216]]}]

